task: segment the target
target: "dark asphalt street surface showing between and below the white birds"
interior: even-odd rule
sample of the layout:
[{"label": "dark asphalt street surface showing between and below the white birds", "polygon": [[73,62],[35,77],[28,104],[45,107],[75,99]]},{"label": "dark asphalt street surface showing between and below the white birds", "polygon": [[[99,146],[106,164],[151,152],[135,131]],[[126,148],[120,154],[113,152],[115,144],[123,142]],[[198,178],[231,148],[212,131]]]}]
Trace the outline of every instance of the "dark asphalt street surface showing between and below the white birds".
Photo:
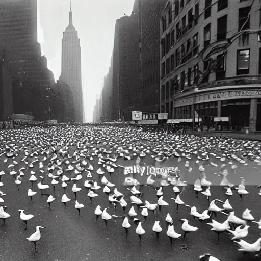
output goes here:
[{"label": "dark asphalt street surface showing between and below the white birds", "polygon": [[[71,148],[70,154],[76,148]],[[19,155],[16,161],[19,162],[23,155]],[[135,261],[181,261],[181,260],[198,260],[199,256],[204,253],[211,253],[211,255],[217,257],[220,261],[241,261],[244,260],[242,253],[238,251],[239,246],[236,243],[230,241],[231,236],[228,233],[221,235],[219,244],[216,244],[217,235],[211,231],[211,226],[203,224],[201,228],[199,221],[194,221],[190,216],[190,210],[188,207],[182,205],[179,207],[178,213],[176,213],[176,204],[171,197],[174,197],[172,190],[173,186],[163,188],[163,199],[169,203],[168,206],[163,206],[160,213],[160,224],[163,231],[160,234],[159,240],[156,239],[155,234],[152,231],[155,218],[153,214],[149,214],[146,221],[142,224],[146,233],[142,236],[141,245],[139,244],[139,237],[135,233],[136,225],[132,224],[129,229],[128,237],[124,228],[121,226],[122,220],[116,218],[108,222],[108,231],[106,231],[105,222],[101,218],[98,219],[98,223],[95,221],[94,210],[97,205],[103,207],[110,207],[108,196],[102,192],[102,188],[97,191],[98,197],[93,199],[93,205],[90,205],[90,199],[87,196],[87,189],[83,186],[84,181],[87,179],[87,172],[83,172],[83,179],[77,181],[77,187],[81,187],[82,190],[77,194],[77,200],[83,203],[85,207],[80,212],[80,217],[77,210],[74,208],[74,194],[71,190],[72,184],[66,189],[66,195],[72,199],[67,203],[66,207],[61,202],[63,195],[63,189],[61,184],[56,187],[56,200],[51,203],[53,211],[50,211],[46,202],[47,196],[41,196],[40,190],[37,188],[37,184],[34,184],[34,191],[37,191],[36,196],[33,197],[33,203],[27,196],[27,191],[31,188],[31,184],[28,181],[30,177],[30,171],[35,171],[36,176],[39,177],[39,164],[34,164],[34,168],[29,168],[25,172],[22,184],[19,186],[19,191],[14,183],[15,179],[9,175],[8,165],[12,163],[12,159],[9,158],[7,163],[3,162],[4,157],[0,158],[0,171],[4,170],[6,175],[3,176],[2,181],[4,187],[0,188],[3,193],[7,193],[3,197],[5,199],[4,204],[7,206],[6,212],[11,215],[6,220],[5,226],[0,223],[0,260],[2,261],[115,261],[115,260],[135,260]],[[142,159],[147,165],[153,164],[154,159],[150,156]],[[199,193],[199,197],[196,198],[193,191],[193,184],[199,176],[198,165],[190,161],[190,166],[193,168],[191,173],[186,173],[185,163],[182,160],[177,162],[177,159],[170,159],[167,162],[168,166],[178,166],[181,170],[183,178],[185,178],[189,185],[182,192],[181,199],[190,206],[196,206],[198,212],[203,212],[208,208],[207,198]],[[123,159],[117,161],[118,164],[123,166],[131,166],[135,163],[132,161],[124,161]],[[98,175],[95,173],[98,169],[97,158],[91,162],[94,167],[92,171],[93,178],[98,180]],[[165,163],[166,165],[166,163]],[[15,166],[15,170],[18,171],[24,163],[19,163]],[[256,220],[261,218],[261,204],[260,197],[258,195],[259,190],[255,188],[256,185],[261,184],[260,170],[254,169],[249,164],[245,168],[238,168],[236,172],[229,170],[228,180],[239,184],[239,177],[244,176],[246,178],[246,190],[249,191],[248,195],[243,196],[243,202],[240,202],[240,197],[237,192],[234,192],[233,196],[229,197],[225,195],[225,190],[218,186],[221,178],[214,172],[218,172],[218,168],[205,166],[207,180],[213,182],[211,187],[211,198],[220,199],[225,201],[229,199],[230,204],[234,207],[236,215],[241,218],[243,211],[246,208],[251,210],[251,214]],[[44,166],[44,170],[47,171],[47,166]],[[186,174],[185,174],[186,173]],[[68,173],[68,176],[72,175]],[[105,176],[111,182],[113,182],[117,189],[125,196],[124,199],[128,202],[125,213],[128,213],[131,207],[130,196],[131,193],[123,186],[124,171],[121,168],[115,169],[112,173],[112,179],[110,179],[109,173]],[[39,179],[38,179],[39,180]],[[38,182],[38,181],[36,181]],[[49,184],[50,185],[50,184]],[[150,203],[156,203],[158,198],[156,197],[155,190],[150,187],[141,187],[143,192],[142,200],[148,200]],[[53,187],[50,185],[47,194],[53,194]],[[35,217],[28,222],[28,229],[24,230],[24,223],[19,218],[19,209],[24,209],[25,214],[33,214]],[[137,208],[136,208],[137,210]],[[138,210],[137,210],[138,211]],[[114,210],[111,207],[108,211],[110,214],[114,214]],[[175,231],[181,233],[181,218],[189,220],[189,224],[199,227],[199,230],[188,234],[186,238],[187,249],[182,249],[181,239],[173,240],[171,246],[168,236],[166,235],[167,226],[165,218],[167,213],[170,213],[173,218]],[[117,210],[117,215],[122,215],[122,210]],[[143,220],[139,212],[139,217]],[[226,219],[222,214],[218,214],[217,221],[223,222]],[[1,222],[1,221],[0,221]],[[34,253],[34,244],[27,241],[25,238],[29,237],[37,225],[46,226],[46,229],[41,230],[42,237],[37,244],[38,254]],[[244,239],[247,242],[254,242],[260,237],[261,230],[258,229],[256,224],[251,224],[249,229],[249,235]],[[250,255],[248,261],[254,260],[254,255]]]}]

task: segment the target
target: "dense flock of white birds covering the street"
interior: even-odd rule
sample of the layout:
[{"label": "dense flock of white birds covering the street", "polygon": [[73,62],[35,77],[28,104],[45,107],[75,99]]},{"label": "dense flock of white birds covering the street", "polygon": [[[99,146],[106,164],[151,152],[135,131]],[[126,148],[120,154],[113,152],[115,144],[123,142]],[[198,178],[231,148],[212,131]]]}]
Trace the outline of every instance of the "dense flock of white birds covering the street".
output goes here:
[{"label": "dense flock of white birds covering the street", "polygon": [[[71,128],[73,133],[73,127]],[[65,138],[65,134],[68,131],[68,128],[65,128],[65,130],[61,128],[59,131],[60,133],[57,133],[60,137],[55,138],[55,136],[53,136],[52,139],[50,139],[50,137],[37,136],[35,134],[37,132],[34,132],[35,128],[24,129],[19,132],[16,130],[9,130],[0,133],[0,144],[2,146],[0,147],[0,161],[4,162],[4,165],[2,164],[0,166],[5,169],[5,171],[0,169],[0,189],[3,188],[3,190],[6,189],[8,191],[8,188],[5,187],[4,184],[5,178],[9,178],[9,176],[14,178],[14,184],[16,184],[18,191],[22,182],[30,181],[31,188],[28,189],[27,195],[30,197],[31,202],[34,202],[34,196],[41,191],[41,195],[48,195],[47,203],[49,205],[49,210],[53,210],[51,208],[51,203],[57,199],[55,191],[56,189],[60,190],[60,188],[62,188],[64,194],[61,198],[61,202],[66,206],[66,203],[74,200],[74,207],[79,212],[80,216],[80,211],[84,207],[84,204],[77,201],[77,193],[82,190],[80,186],[83,184],[87,189],[87,196],[90,199],[91,205],[92,198],[98,197],[100,193],[105,193],[108,196],[109,207],[113,207],[115,211],[118,208],[122,208],[124,213],[122,216],[116,214],[110,215],[107,212],[109,207],[102,209],[102,207],[98,205],[94,211],[96,222],[98,222],[99,217],[101,217],[107,228],[109,220],[122,218],[122,227],[125,229],[126,237],[128,236],[129,228],[134,225],[141,244],[142,236],[146,233],[142,225],[143,222],[146,221],[149,213],[152,213],[155,216],[155,221],[153,226],[151,226],[151,229],[155,233],[156,238],[159,239],[160,234],[163,232],[162,224],[160,224],[158,217],[161,208],[169,205],[164,198],[164,187],[173,186],[174,196],[170,199],[176,204],[176,212],[178,212],[179,206],[184,205],[184,207],[188,208],[188,213],[190,213],[193,219],[197,219],[201,222],[201,227],[206,223],[211,227],[211,230],[217,234],[217,244],[219,243],[221,233],[230,233],[232,236],[231,240],[240,246],[238,250],[244,254],[245,259],[248,253],[255,253],[256,257],[259,256],[261,250],[261,238],[258,238],[254,243],[246,242],[243,238],[248,235],[248,229],[251,224],[257,224],[258,228],[261,229],[261,219],[260,221],[255,220],[248,208],[246,208],[242,213],[241,217],[236,216],[234,208],[229,203],[229,199],[226,199],[225,202],[219,199],[212,200],[211,202],[208,201],[208,208],[202,213],[199,213],[195,206],[190,206],[182,200],[182,191],[186,186],[188,186],[188,184],[185,180],[180,180],[180,172],[177,168],[175,168],[172,173],[166,174],[162,177],[160,186],[153,186],[153,182],[155,181],[153,174],[147,177],[146,186],[151,187],[152,193],[156,193],[156,196],[158,197],[158,201],[154,203],[148,202],[143,197],[142,191],[139,191],[141,187],[137,188],[137,186],[129,186],[127,188],[131,195],[131,202],[127,202],[128,200],[125,200],[124,197],[126,198],[128,195],[121,193],[116,188],[116,185],[110,182],[105,176],[106,173],[111,175],[114,173],[116,168],[123,167],[117,163],[119,158],[124,158],[125,160],[135,160],[138,158],[138,164],[140,159],[144,158],[146,155],[151,155],[152,158],[155,159],[155,165],[164,162],[164,160],[173,155],[178,159],[178,161],[181,161],[181,158],[184,158],[186,159],[186,170],[191,173],[192,168],[190,168],[189,165],[189,160],[191,159],[190,154],[194,153],[196,155],[196,150],[186,151],[184,147],[182,148],[182,143],[184,142],[182,139],[186,138],[187,144],[189,142],[192,143],[189,136],[181,138],[175,135],[165,135],[167,140],[169,139],[172,141],[172,145],[166,150],[166,147],[163,146],[164,142],[166,142],[166,137],[163,138],[163,135],[160,137],[158,134],[151,134],[148,136],[148,133],[132,131],[135,132],[137,136],[136,140],[135,138],[133,138],[134,140],[122,138],[122,143],[119,144],[121,140],[121,137],[119,136],[121,129],[116,130],[118,132],[118,137],[116,137],[116,131],[113,128],[109,128],[107,131],[106,129],[103,129],[103,131],[106,131],[106,134],[99,132],[99,128],[95,129],[95,131],[93,131],[91,127],[87,129],[85,128],[83,127],[83,130],[87,137],[83,136],[78,138],[77,136],[69,136],[67,139]],[[29,136],[29,134],[31,134],[31,136]],[[103,135],[107,136],[103,137]],[[149,142],[152,142],[152,140],[155,141],[153,137],[158,138],[158,143],[155,143],[154,147],[138,142],[138,140],[142,139],[147,139]],[[230,140],[230,143],[233,143],[233,141]],[[257,146],[257,143],[255,142],[247,142],[244,144],[247,144],[243,146],[245,148],[249,146],[251,148]],[[74,146],[76,146],[76,149],[72,155],[70,155],[68,151]],[[221,143],[220,147],[221,146],[224,147],[224,143]],[[242,150],[241,147],[235,145],[234,147],[230,147],[229,151],[232,151],[233,149]],[[243,151],[246,151],[246,149]],[[194,188],[191,186],[191,189],[194,190],[197,197],[198,194],[201,193],[206,196],[207,200],[210,199],[212,184],[206,179],[205,169],[202,164],[202,162],[210,159],[208,156],[210,154],[215,155],[216,158],[221,161],[222,165],[220,172],[215,174],[222,177],[220,185],[225,188],[225,195],[231,197],[234,193],[237,193],[242,200],[242,197],[248,194],[248,191],[245,188],[245,178],[241,178],[241,182],[238,186],[231,184],[227,180],[228,172],[226,169],[226,163],[231,165],[232,169],[236,169],[237,165],[232,163],[232,160],[228,159],[226,155],[217,155],[212,152],[207,152],[206,150],[202,151],[201,155],[198,155],[196,163],[199,166],[200,176],[196,180]],[[17,162],[16,160],[18,156],[21,155],[23,157],[22,160]],[[247,155],[245,156],[252,157],[254,154],[253,152],[247,152]],[[246,160],[239,158],[236,155],[231,156],[231,158],[238,161],[243,166],[247,165]],[[98,161],[98,169],[95,169],[92,166],[92,161],[95,160]],[[260,157],[258,158],[258,156],[255,157],[253,161],[258,165],[261,164]],[[19,170],[16,169],[16,166],[22,163],[24,164],[24,167],[19,168]],[[210,162],[210,165],[217,166],[217,164],[213,162]],[[43,170],[44,166],[47,166],[47,171]],[[36,171],[30,170],[35,167],[37,167]],[[93,176],[96,175],[98,178],[93,178]],[[37,189],[34,184],[37,184]],[[71,184],[73,184],[71,190],[75,195],[74,199],[70,199],[66,195],[66,191]],[[4,196],[6,195],[7,194],[0,191],[0,219],[3,220],[3,225],[5,225],[5,220],[10,218],[10,215],[7,213],[7,207],[4,204]],[[259,195],[261,195],[261,191],[259,192]],[[128,212],[126,212],[127,205],[131,205]],[[26,230],[28,221],[34,218],[34,215],[25,214],[26,210],[21,209],[19,209],[18,212],[21,221],[25,223]],[[138,212],[140,212],[143,217],[142,220],[137,218]],[[219,215],[226,217],[223,223],[217,221]],[[175,231],[175,217],[171,217],[170,213],[168,213],[165,217],[165,221],[167,224],[166,234],[169,237],[171,244],[173,244],[174,240],[178,240],[181,237],[183,242],[185,242],[186,236],[189,233],[197,233],[200,229],[200,227],[189,224],[188,219],[183,218],[181,219],[182,235]],[[41,228],[44,227],[37,226],[36,232],[34,232],[29,238],[26,238],[28,241],[34,243],[36,253],[36,244],[41,238]],[[210,254],[201,255],[199,260],[218,261],[216,257],[211,256]]]}]

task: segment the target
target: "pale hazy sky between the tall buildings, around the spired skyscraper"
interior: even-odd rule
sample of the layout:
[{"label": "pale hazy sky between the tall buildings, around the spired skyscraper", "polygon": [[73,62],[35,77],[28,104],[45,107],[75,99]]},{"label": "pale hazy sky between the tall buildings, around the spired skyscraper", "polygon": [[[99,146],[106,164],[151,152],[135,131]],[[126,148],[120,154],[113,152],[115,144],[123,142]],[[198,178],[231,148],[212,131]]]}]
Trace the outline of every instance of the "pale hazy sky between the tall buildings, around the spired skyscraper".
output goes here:
[{"label": "pale hazy sky between the tall buildings, around the spired skyscraper", "polygon": [[[70,0],[37,0],[38,42],[55,80],[61,74],[63,31],[69,22]],[[134,0],[71,0],[73,25],[81,39],[85,118],[92,121],[96,95],[108,72],[116,19],[130,15]]]}]

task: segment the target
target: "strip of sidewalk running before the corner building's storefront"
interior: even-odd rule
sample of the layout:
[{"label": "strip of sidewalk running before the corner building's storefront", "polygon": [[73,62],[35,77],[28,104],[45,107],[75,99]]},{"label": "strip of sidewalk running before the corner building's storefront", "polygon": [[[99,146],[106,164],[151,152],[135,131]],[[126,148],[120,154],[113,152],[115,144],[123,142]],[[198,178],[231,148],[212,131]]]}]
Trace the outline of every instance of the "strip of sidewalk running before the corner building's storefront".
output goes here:
[{"label": "strip of sidewalk running before the corner building's storefront", "polygon": [[206,137],[228,137],[239,140],[250,140],[250,141],[261,141],[261,134],[245,134],[243,132],[196,132],[196,131],[186,131],[187,134],[193,134],[196,136],[206,136]]}]

